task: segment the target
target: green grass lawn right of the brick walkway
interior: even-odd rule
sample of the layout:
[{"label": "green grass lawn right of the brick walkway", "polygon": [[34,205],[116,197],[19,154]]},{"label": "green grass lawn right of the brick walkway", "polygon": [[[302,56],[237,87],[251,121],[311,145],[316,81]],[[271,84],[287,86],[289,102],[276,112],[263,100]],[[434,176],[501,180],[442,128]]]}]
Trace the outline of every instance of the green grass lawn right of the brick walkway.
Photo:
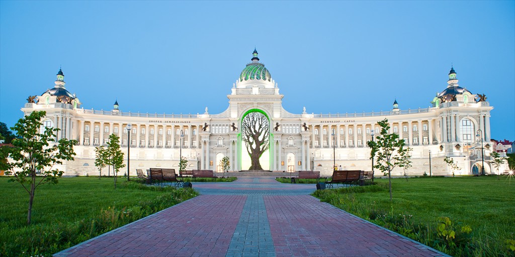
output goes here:
[{"label": "green grass lawn right of the brick walkway", "polygon": [[[392,179],[392,204],[388,180],[375,182],[313,195],[451,255],[515,256],[506,243],[515,239],[515,181],[496,176]],[[439,217],[450,218],[448,230],[456,232],[455,238],[438,235]],[[471,233],[462,232],[467,225]]]}]

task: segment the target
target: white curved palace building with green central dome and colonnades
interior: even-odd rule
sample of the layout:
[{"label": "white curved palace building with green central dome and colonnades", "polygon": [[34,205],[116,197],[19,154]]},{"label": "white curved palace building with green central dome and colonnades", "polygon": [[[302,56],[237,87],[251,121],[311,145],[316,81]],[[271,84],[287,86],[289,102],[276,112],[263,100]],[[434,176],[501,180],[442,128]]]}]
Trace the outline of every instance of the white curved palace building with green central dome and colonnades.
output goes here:
[{"label": "white curved palace building with green central dome and colonnades", "polygon": [[[122,150],[130,147],[130,173],[153,167],[178,171],[179,157],[187,158],[187,170],[221,172],[220,160],[227,156],[230,172],[248,170],[250,157],[239,128],[246,115],[264,114],[269,121],[269,147],[260,158],[264,170],[295,172],[320,171],[332,174],[333,162],[348,170],[371,170],[367,141],[379,135],[377,121],[388,119],[390,132],[399,134],[413,149],[413,167],[393,170],[392,175],[468,175],[490,168],[490,111],[484,95],[460,87],[454,68],[445,86],[435,86],[441,93],[428,98],[430,108],[401,110],[397,100],[390,111],[346,114],[309,114],[305,108],[294,114],[282,107],[277,83],[259,62],[254,50],[251,63],[227,88],[229,106],[219,114],[197,115],[126,113],[114,103],[112,111],[83,109],[76,95],[66,90],[64,74],[57,74],[55,86],[36,99],[28,99],[25,115],[46,111],[44,126],[56,127],[61,138],[75,139],[75,160],[59,169],[65,175],[98,175],[95,147],[106,144],[110,134],[120,137]],[[128,131],[130,124],[130,131]],[[480,130],[480,131],[478,131]],[[478,133],[479,132],[479,133]],[[129,139],[130,138],[130,139]],[[480,141],[483,141],[483,148]],[[460,170],[450,171],[443,161],[449,156]],[[431,163],[431,166],[430,166]]]}]

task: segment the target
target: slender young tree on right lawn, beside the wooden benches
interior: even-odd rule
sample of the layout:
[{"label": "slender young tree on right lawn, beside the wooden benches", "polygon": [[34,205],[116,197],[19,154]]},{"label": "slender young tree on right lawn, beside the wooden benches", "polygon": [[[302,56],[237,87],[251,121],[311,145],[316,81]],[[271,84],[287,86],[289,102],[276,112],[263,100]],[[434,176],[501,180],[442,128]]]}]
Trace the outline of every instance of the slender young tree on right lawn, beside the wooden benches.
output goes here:
[{"label": "slender young tree on right lawn, beside the wooden benches", "polygon": [[374,141],[368,141],[367,145],[372,149],[370,151],[370,158],[375,157],[376,159],[374,168],[388,173],[390,201],[392,201],[391,171],[396,166],[407,167],[410,165],[411,149],[404,146],[404,139],[399,140],[399,135],[388,133],[390,126],[387,119],[378,121],[377,124],[381,127],[380,136],[376,136]]}]

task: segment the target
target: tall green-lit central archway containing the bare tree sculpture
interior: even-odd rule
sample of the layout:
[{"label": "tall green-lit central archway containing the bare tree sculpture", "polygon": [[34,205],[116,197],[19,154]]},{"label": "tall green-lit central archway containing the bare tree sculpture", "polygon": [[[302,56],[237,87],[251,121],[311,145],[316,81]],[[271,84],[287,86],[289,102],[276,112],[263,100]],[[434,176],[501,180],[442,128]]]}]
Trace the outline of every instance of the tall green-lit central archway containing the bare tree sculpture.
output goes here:
[{"label": "tall green-lit central archway containing the bare tree sculpture", "polygon": [[248,170],[270,169],[270,118],[261,109],[250,109],[241,119],[238,135],[241,167]]}]

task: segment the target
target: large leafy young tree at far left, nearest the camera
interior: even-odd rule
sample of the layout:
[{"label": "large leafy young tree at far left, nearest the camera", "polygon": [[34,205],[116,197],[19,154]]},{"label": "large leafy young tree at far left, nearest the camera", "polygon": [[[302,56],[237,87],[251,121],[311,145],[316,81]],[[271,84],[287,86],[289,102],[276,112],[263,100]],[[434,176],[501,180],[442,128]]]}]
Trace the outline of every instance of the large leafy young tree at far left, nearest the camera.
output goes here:
[{"label": "large leafy young tree at far left, nearest the camera", "polygon": [[6,174],[13,175],[14,178],[9,181],[18,181],[29,194],[27,224],[31,221],[36,188],[44,183],[58,182],[57,178],[63,171],[54,169],[54,165],[62,164],[64,160],[73,160],[73,145],[77,143],[76,140],[66,138],[52,143],[55,142],[54,132],[59,129],[43,127],[41,119],[45,115],[46,112],[33,112],[12,127],[18,138],[12,140],[16,151],[10,152],[13,162],[8,163]]}]

